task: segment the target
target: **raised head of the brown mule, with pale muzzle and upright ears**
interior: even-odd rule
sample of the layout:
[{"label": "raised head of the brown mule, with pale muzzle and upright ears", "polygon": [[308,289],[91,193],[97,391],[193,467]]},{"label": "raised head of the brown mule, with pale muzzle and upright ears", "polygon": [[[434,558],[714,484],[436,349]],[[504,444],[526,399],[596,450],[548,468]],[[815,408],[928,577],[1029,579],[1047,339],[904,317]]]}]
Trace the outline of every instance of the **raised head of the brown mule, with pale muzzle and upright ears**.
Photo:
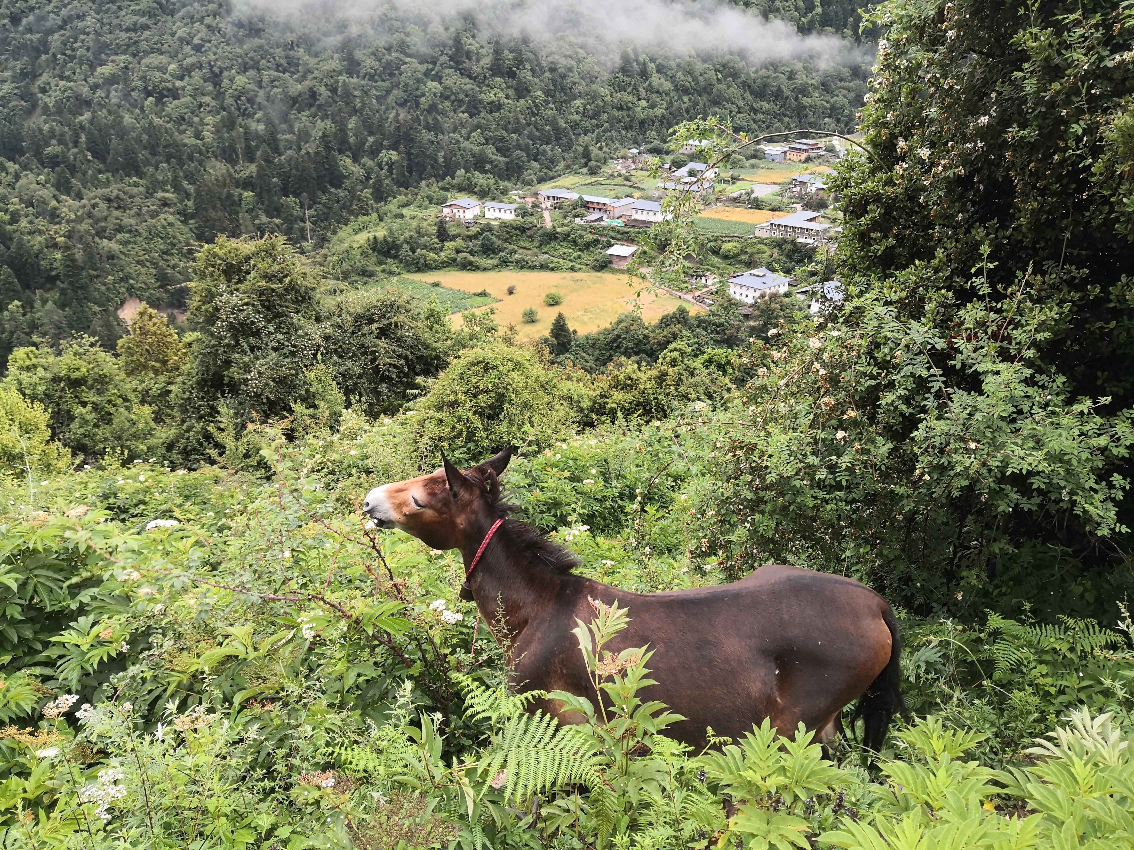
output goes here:
[{"label": "raised head of the brown mule, with pale muzzle and upright ears", "polygon": [[382,528],[400,528],[432,549],[464,550],[471,534],[483,535],[499,516],[500,475],[514,451],[464,471],[442,454],[435,473],[374,487],[362,509]]}]

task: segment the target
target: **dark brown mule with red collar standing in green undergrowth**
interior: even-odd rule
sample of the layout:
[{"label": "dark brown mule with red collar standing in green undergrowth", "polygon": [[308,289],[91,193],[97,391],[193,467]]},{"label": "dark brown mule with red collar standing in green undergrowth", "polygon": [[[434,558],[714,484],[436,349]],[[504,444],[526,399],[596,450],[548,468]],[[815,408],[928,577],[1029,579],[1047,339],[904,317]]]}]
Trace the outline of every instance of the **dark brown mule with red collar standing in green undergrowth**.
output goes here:
[{"label": "dark brown mule with red collar standing in green undergrowth", "polygon": [[[609,648],[649,644],[658,683],[648,698],[687,719],[667,734],[702,747],[706,726],[735,739],[769,717],[784,734],[803,722],[828,742],[840,729],[843,707],[861,696],[863,742],[881,746],[903,708],[898,627],[886,600],[852,579],[780,564],[729,585],[652,594],[576,576],[574,555],[506,518],[499,476],[511,453],[465,471],[445,460],[431,475],[375,487],[363,509],[382,527],[433,549],[459,549],[466,570],[482,552],[462,595],[471,592],[486,623],[507,623],[521,688],[594,700],[570,631],[576,618],[591,620],[589,598],[617,601],[632,619]],[[535,707],[575,720],[555,700]]]}]

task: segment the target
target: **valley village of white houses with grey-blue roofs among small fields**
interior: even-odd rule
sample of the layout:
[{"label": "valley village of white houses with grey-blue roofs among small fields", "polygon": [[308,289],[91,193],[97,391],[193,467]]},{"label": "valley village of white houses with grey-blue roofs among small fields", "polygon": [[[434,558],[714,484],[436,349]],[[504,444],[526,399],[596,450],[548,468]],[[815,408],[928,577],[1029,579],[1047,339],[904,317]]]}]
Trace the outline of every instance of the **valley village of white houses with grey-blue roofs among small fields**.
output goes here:
[{"label": "valley village of white houses with grey-blue roofs among small fields", "polygon": [[[667,197],[693,195],[704,207],[699,221],[713,230],[727,228],[727,232],[714,232],[720,238],[789,239],[816,252],[833,250],[841,228],[828,190],[830,168],[827,163],[843,155],[838,138],[767,145],[756,151],[758,159],[767,165],[731,169],[727,175],[719,167],[685,159],[685,155],[696,155],[703,144],[689,142],[684,145],[678,155],[660,163],[660,177],[655,180],[641,179],[642,171],[649,168],[649,154],[632,147],[613,161],[611,178],[565,176],[534,192],[513,192],[508,202],[457,197],[440,205],[438,219],[475,227],[540,215],[543,226],[551,228],[555,214],[560,221],[589,229],[625,229],[629,237],[635,230],[648,230],[672,218]],[[746,164],[758,163],[748,161]],[[765,181],[758,182],[756,178]],[[586,192],[592,186],[618,186],[611,179],[624,182],[625,189],[618,187],[621,196]],[[631,238],[616,240],[606,250],[607,263],[610,269],[632,267],[649,277],[650,270],[648,265],[643,267],[645,261],[637,256],[638,253],[640,246]],[[685,290],[655,284],[666,294],[703,308],[727,294],[741,303],[744,313],[751,312],[760,299],[789,292],[805,299],[811,313],[824,311],[843,297],[837,280],[797,284],[792,277],[767,267],[726,275],[699,271],[689,274],[686,283]]]}]

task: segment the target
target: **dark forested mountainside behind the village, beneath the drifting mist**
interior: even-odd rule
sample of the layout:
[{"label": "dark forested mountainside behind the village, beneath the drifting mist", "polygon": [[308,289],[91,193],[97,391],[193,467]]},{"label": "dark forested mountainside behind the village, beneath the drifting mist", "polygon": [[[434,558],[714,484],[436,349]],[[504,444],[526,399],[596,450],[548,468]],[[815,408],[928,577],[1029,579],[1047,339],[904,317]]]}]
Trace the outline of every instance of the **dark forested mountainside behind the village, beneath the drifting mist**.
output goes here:
[{"label": "dark forested mountainside behind the village, beneath the drifting mist", "polygon": [[[839,32],[854,16],[785,11]],[[845,130],[865,91],[862,67],[631,50],[611,66],[473,18],[380,24],[5,0],[0,350],[75,331],[112,348],[113,311],[183,305],[188,247],[219,233],[320,245],[399,188],[474,171],[530,185],[660,151],[697,114]]]}]

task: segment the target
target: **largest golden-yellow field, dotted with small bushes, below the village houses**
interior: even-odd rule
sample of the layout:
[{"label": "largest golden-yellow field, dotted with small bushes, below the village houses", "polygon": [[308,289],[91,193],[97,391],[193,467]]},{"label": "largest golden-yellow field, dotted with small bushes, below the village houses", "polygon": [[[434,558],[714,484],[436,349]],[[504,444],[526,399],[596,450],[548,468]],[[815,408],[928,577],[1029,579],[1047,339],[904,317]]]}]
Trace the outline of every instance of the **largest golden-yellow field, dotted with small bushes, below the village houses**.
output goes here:
[{"label": "largest golden-yellow field, dotted with small bushes, below the village houses", "polygon": [[[641,289],[637,281],[633,287],[627,286],[629,277],[626,274],[601,272],[426,272],[408,277],[424,281],[439,280],[442,286],[466,292],[489,290],[500,299],[491,305],[496,308],[493,317],[501,328],[515,324],[521,339],[545,335],[551,328],[551,320],[559,311],[562,311],[572,330],[579,333],[606,328],[634,307],[634,294]],[[516,287],[516,295],[508,295],[510,286]],[[548,307],[543,303],[543,296],[548,292],[559,292],[564,303],[558,307]],[[646,322],[657,321],[682,304],[693,312],[700,309],[687,301],[649,292],[642,292],[637,303],[642,305],[642,318]],[[527,307],[535,307],[540,313],[540,318],[534,324],[527,324],[521,317]],[[452,316],[452,321],[459,326],[460,315]]]}]

